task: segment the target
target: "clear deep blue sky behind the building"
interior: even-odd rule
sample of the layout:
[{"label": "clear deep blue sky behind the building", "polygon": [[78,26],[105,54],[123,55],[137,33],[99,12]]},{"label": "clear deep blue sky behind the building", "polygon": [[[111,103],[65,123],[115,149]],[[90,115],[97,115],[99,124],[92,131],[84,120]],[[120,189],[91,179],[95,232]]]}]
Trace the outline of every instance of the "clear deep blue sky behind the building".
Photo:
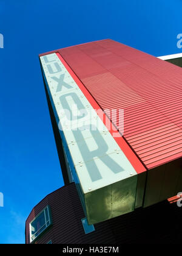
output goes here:
[{"label": "clear deep blue sky behind the building", "polygon": [[104,38],[179,53],[181,13],[181,0],[0,0],[0,243],[24,243],[30,210],[63,185],[38,54]]}]

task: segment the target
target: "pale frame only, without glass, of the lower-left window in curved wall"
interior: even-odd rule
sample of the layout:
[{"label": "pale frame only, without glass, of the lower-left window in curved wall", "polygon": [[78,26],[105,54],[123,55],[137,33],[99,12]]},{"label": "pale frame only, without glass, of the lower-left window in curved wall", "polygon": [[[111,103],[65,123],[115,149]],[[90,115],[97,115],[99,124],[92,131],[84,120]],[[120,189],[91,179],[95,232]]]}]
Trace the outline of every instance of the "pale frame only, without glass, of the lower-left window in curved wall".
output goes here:
[{"label": "pale frame only, without glass, of the lower-left window in curved wall", "polygon": [[[46,213],[45,210],[47,210],[47,215],[48,215],[48,219],[46,218]],[[42,213],[44,212],[44,225],[42,225],[33,235],[32,235],[32,222],[34,222]],[[47,224],[47,222],[49,222],[49,224]],[[45,226],[45,227],[44,227]],[[50,212],[50,206],[47,205],[44,207],[44,209],[41,210],[41,212],[38,213],[38,215],[35,216],[35,218],[32,219],[32,221],[30,221],[29,223],[29,234],[30,234],[30,243],[34,243],[50,226],[52,226],[52,215]],[[44,227],[44,229],[42,229],[42,227]],[[36,235],[35,238],[33,238],[33,236],[35,236],[35,234],[41,230],[42,231]]]}]

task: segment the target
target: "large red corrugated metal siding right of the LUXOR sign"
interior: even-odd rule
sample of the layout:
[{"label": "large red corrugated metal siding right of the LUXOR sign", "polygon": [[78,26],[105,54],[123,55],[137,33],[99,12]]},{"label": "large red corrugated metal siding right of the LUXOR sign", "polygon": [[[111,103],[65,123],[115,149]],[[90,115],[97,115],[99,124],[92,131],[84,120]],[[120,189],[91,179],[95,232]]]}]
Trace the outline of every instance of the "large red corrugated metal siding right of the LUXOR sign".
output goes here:
[{"label": "large red corrugated metal siding right of the LUXOR sign", "polygon": [[147,168],[181,157],[181,68],[113,40],[58,52],[103,110],[124,109],[124,138]]}]

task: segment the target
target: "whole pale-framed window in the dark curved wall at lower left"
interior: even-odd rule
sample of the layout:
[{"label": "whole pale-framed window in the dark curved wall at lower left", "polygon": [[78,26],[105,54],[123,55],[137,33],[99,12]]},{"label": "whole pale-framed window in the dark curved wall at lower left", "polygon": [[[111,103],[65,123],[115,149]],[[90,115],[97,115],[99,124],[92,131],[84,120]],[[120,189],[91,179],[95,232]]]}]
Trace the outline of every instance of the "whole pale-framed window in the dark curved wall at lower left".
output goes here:
[{"label": "whole pale-framed window in the dark curved wall at lower left", "polygon": [[32,241],[34,241],[51,224],[50,207],[47,205],[47,207],[45,207],[44,210],[30,222],[30,243],[32,243]]}]

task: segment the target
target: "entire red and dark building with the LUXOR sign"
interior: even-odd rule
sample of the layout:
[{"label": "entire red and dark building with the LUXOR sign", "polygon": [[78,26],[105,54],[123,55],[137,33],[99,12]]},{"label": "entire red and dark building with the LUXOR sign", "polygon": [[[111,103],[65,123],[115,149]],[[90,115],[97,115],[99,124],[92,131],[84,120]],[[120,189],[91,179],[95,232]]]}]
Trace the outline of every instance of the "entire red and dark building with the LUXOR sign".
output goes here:
[{"label": "entire red and dark building with the LUXOR sign", "polygon": [[[164,62],[101,40],[39,58],[65,186],[30,213],[26,243],[133,243],[138,237],[164,242],[163,235],[151,237],[150,224],[137,227],[137,238],[132,227],[121,226],[164,209],[180,213],[166,202],[182,191],[179,56]],[[70,191],[68,201],[64,194]],[[69,224],[78,240],[69,236]]]}]

